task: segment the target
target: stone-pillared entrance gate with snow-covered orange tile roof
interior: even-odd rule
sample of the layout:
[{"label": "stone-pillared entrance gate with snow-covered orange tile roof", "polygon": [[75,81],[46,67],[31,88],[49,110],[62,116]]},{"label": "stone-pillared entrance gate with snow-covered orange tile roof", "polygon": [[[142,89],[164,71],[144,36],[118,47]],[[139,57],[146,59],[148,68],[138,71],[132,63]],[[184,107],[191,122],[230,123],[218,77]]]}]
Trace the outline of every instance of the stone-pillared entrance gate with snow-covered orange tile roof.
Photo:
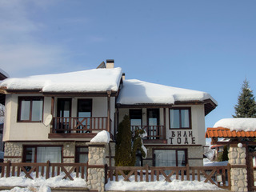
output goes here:
[{"label": "stone-pillared entrance gate with snow-covered orange tile roof", "polygon": [[229,148],[231,190],[256,190],[256,118],[224,118],[207,128],[206,138]]}]

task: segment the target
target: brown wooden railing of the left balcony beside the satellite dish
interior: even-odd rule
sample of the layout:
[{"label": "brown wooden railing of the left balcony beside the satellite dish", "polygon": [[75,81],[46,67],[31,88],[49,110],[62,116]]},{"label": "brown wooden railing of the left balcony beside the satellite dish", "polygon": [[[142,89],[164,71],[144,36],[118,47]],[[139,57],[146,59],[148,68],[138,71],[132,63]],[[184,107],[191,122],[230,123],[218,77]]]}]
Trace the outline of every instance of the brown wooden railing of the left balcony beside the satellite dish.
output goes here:
[{"label": "brown wooden railing of the left balcony beside the satellite dish", "polygon": [[92,133],[93,130],[107,130],[107,118],[53,118],[52,134]]}]

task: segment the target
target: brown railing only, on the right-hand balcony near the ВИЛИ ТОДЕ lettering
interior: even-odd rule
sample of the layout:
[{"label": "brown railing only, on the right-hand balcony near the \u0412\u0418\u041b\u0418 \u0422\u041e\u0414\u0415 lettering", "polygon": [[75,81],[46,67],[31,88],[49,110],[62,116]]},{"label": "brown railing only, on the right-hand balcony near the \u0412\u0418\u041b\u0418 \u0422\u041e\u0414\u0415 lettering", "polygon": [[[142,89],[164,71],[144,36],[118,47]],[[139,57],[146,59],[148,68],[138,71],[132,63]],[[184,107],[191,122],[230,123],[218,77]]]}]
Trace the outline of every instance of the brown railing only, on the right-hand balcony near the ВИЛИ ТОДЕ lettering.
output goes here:
[{"label": "brown railing only, on the right-hand balcony near the \u0412\u0418\u041b\u0418 \u0422\u041e\u0414\u0415 lettering", "polygon": [[165,139],[163,134],[165,131],[164,126],[130,126],[131,130],[136,128],[143,129],[146,131],[147,137],[144,139]]}]

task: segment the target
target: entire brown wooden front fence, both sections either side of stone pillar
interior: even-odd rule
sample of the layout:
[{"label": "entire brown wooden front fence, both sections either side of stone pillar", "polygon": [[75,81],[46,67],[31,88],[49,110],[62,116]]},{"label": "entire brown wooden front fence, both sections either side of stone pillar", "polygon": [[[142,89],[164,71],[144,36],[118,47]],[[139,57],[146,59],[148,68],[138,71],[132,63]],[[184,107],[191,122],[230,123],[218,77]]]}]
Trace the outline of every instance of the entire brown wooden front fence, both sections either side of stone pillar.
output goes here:
[{"label": "entire brown wooden front fence, both sections either side of stone pillar", "polygon": [[[101,166],[102,167],[102,166]],[[122,177],[124,181],[130,182],[154,182],[166,180],[172,182],[174,179],[181,181],[203,181],[211,182],[223,189],[230,190],[230,164],[227,166],[103,166],[106,170],[106,182],[119,181]],[[98,168],[98,166],[88,166],[87,163],[40,163],[40,162],[1,162],[0,176],[11,177],[25,174],[26,178],[34,179],[39,176],[50,178],[58,176],[61,173],[62,179],[84,178],[87,181],[88,168]],[[216,181],[216,176],[222,179],[222,182]]]}]

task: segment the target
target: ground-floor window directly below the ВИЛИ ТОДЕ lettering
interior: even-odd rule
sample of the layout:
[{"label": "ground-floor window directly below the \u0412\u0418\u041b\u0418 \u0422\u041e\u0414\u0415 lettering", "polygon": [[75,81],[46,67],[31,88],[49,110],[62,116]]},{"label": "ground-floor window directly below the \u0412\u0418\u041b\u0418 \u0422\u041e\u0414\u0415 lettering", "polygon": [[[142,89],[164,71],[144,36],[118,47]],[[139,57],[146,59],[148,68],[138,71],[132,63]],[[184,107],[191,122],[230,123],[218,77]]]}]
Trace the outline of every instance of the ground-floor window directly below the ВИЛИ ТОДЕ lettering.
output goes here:
[{"label": "ground-floor window directly below the \u0412\u0418\u041b\u0418 \u0422\u041e\u0414\u0415 lettering", "polygon": [[187,150],[154,150],[154,166],[186,166]]}]

